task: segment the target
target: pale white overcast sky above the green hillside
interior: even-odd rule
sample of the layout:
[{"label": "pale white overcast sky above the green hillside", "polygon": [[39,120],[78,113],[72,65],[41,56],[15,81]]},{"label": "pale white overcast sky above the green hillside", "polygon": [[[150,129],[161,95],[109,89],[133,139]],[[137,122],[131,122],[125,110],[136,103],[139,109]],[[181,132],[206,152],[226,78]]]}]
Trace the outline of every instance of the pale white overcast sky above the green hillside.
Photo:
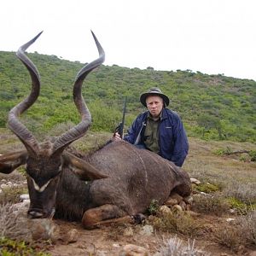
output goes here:
[{"label": "pale white overcast sky above the green hillside", "polygon": [[[255,0],[3,0],[0,50],[256,80]],[[40,72],[40,71],[39,71]]]}]

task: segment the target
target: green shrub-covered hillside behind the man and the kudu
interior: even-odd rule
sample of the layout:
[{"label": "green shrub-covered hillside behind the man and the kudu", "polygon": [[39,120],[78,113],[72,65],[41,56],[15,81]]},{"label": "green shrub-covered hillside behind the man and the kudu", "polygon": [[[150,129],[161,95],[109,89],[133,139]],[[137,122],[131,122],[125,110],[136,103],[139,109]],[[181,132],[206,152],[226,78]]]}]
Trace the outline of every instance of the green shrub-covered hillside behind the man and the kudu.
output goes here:
[{"label": "green shrub-covered hillside behind the man and the kudu", "polygon": [[[51,135],[60,123],[77,123],[73,106],[73,80],[82,63],[55,55],[29,54],[41,75],[41,94],[23,122],[38,135]],[[89,60],[92,61],[92,60]],[[27,96],[30,77],[14,52],[0,51],[0,127],[6,126],[9,109]],[[113,131],[121,119],[127,96],[125,125],[143,111],[138,98],[149,87],[158,86],[172,102],[170,108],[183,119],[190,137],[256,141],[256,82],[222,74],[207,75],[189,70],[155,71],[113,65],[99,67],[84,82],[84,98],[93,117],[92,131]]]}]

